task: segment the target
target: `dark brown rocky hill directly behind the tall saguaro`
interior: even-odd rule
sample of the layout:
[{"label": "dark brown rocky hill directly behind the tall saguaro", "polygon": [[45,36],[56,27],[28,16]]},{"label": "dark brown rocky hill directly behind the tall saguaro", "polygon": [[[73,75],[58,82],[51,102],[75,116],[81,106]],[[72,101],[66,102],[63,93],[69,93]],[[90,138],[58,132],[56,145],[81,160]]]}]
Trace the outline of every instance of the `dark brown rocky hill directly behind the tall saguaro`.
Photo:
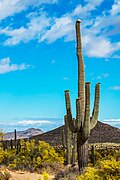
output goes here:
[{"label": "dark brown rocky hill directly behind the tall saguaro", "polygon": [[[64,126],[61,126],[52,131],[31,137],[36,141],[43,140],[51,145],[62,144],[62,130]],[[98,121],[96,127],[91,130],[89,143],[120,143],[120,129],[110,126],[108,124]]]}]

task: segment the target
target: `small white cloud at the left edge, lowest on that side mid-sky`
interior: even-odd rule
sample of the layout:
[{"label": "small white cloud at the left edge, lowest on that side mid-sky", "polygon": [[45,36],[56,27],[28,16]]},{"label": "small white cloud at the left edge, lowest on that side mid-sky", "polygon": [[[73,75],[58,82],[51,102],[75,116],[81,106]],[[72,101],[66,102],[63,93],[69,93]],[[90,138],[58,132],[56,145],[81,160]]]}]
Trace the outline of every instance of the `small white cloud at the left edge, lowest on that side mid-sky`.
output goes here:
[{"label": "small white cloud at the left edge, lowest on that side mid-sky", "polygon": [[5,74],[11,71],[21,71],[24,69],[28,69],[30,65],[28,64],[11,64],[11,60],[9,57],[0,60],[0,74]]}]

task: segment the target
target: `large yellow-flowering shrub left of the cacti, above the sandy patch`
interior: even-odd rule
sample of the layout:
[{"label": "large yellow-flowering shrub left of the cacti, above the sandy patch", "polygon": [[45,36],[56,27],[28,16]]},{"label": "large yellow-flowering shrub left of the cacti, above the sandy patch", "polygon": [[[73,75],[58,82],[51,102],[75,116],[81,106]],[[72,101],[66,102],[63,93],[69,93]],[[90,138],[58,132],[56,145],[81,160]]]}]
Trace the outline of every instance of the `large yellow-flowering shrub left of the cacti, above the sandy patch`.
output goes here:
[{"label": "large yellow-flowering shrub left of the cacti, above the sandy patch", "polygon": [[45,164],[63,164],[63,162],[63,157],[59,157],[55,149],[48,143],[39,141],[36,145],[34,140],[30,142],[22,140],[20,152],[16,155],[13,163],[9,164],[9,167],[34,171],[44,168]]}]

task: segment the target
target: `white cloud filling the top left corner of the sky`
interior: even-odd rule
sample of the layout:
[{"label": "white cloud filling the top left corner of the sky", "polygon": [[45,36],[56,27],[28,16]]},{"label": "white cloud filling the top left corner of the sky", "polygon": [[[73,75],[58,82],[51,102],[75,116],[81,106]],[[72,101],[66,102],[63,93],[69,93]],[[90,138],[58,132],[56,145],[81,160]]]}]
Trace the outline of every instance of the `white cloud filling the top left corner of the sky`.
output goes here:
[{"label": "white cloud filling the top left corner of the sky", "polygon": [[27,10],[29,6],[56,3],[57,0],[0,0],[0,20]]}]

